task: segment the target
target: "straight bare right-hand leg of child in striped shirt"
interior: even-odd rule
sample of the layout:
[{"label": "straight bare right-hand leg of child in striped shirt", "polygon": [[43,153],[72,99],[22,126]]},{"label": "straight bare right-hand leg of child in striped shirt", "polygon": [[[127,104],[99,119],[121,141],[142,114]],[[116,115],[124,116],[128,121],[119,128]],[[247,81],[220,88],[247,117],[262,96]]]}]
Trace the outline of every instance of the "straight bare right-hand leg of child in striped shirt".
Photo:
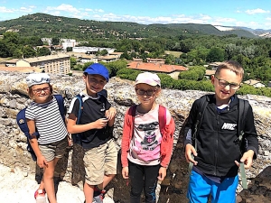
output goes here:
[{"label": "straight bare right-hand leg of child in striped shirt", "polygon": [[57,203],[54,190],[53,173],[55,165],[57,164],[58,161],[59,158],[55,158],[54,160],[47,162],[48,166],[44,167],[43,172],[44,187],[50,203]]}]

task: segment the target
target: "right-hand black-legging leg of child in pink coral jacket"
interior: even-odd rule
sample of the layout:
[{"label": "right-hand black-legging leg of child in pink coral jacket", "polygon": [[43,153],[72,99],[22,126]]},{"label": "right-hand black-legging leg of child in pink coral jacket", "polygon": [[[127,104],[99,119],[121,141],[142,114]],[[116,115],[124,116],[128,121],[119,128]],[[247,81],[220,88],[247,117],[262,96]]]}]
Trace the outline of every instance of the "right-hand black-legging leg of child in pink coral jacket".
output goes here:
[{"label": "right-hand black-legging leg of child in pink coral jacket", "polygon": [[160,169],[160,164],[155,166],[145,166],[145,202],[146,203],[155,203],[156,202],[156,194],[155,189],[157,186],[157,177]]}]

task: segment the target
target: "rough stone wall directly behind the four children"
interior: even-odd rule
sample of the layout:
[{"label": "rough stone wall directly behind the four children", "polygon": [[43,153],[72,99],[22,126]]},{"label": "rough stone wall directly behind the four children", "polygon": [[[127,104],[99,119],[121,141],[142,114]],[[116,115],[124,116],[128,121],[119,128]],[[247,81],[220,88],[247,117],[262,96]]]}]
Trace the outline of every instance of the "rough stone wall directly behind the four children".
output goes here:
[{"label": "rough stone wall directly behind the four children", "polygon": [[[27,87],[24,82],[26,76],[25,73],[0,72],[0,162],[6,166],[20,169],[25,174],[36,173],[36,178],[39,179],[41,171],[36,168],[35,162],[26,152],[26,138],[20,132],[15,121],[17,112],[31,102],[26,93]],[[67,107],[70,104],[70,99],[84,88],[84,83],[80,77],[51,75],[51,83],[55,93],[66,97]],[[137,103],[135,91],[133,82],[119,78],[110,78],[106,88],[108,100],[113,106],[117,107],[114,137],[117,150],[119,150],[124,114],[129,106]],[[206,92],[163,89],[161,96],[157,98],[158,103],[170,109],[176,123],[173,159],[166,179],[158,187],[160,194],[157,191],[160,202],[180,202],[180,199],[185,199],[188,181],[187,163],[184,160],[182,134],[179,136],[179,132],[189,114],[192,102],[204,94]],[[259,154],[253,167],[247,171],[248,181],[251,181],[250,190],[241,191],[241,187],[239,187],[239,199],[245,202],[246,199],[253,199],[251,196],[255,196],[255,194],[268,199],[270,187],[268,188],[266,183],[263,183],[265,181],[261,177],[266,177],[265,171],[269,169],[271,157],[269,149],[271,143],[271,98],[253,95],[246,95],[243,98],[248,99],[254,110],[255,124],[259,134]],[[81,155],[82,152],[78,146],[67,149],[66,156],[58,163],[55,176],[81,188],[84,174]],[[128,182],[122,179],[120,170],[119,163],[117,177],[108,188],[115,190],[115,202],[128,202]],[[270,182],[270,179],[268,180]],[[264,186],[261,186],[261,184],[264,184]],[[263,189],[263,187],[266,188]],[[185,202],[185,200],[182,202]]]}]

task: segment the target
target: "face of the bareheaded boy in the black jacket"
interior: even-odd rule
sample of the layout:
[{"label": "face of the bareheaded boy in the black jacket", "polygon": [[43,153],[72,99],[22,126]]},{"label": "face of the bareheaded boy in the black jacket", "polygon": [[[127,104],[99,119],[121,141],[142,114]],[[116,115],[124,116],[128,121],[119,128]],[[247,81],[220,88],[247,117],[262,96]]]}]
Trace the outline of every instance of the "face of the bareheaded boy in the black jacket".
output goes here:
[{"label": "face of the bareheaded boy in the black jacket", "polygon": [[211,83],[214,85],[217,100],[229,101],[239,88],[242,77],[229,69],[221,69],[220,75],[212,76]]}]

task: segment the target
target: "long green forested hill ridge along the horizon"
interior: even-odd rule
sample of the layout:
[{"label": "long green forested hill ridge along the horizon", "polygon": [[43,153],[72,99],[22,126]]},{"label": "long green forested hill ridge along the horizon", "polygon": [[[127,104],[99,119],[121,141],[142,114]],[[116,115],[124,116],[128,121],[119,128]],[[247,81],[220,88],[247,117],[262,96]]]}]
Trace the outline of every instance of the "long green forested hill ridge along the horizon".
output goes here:
[{"label": "long green forested hill ridge along the horizon", "polygon": [[91,38],[148,38],[178,37],[182,34],[234,34],[239,37],[255,38],[251,32],[232,30],[222,32],[210,24],[174,23],[139,24],[126,22],[98,22],[79,20],[49,14],[28,14],[17,19],[0,22],[0,34],[6,31],[18,32],[21,36],[72,38],[90,40]]}]

